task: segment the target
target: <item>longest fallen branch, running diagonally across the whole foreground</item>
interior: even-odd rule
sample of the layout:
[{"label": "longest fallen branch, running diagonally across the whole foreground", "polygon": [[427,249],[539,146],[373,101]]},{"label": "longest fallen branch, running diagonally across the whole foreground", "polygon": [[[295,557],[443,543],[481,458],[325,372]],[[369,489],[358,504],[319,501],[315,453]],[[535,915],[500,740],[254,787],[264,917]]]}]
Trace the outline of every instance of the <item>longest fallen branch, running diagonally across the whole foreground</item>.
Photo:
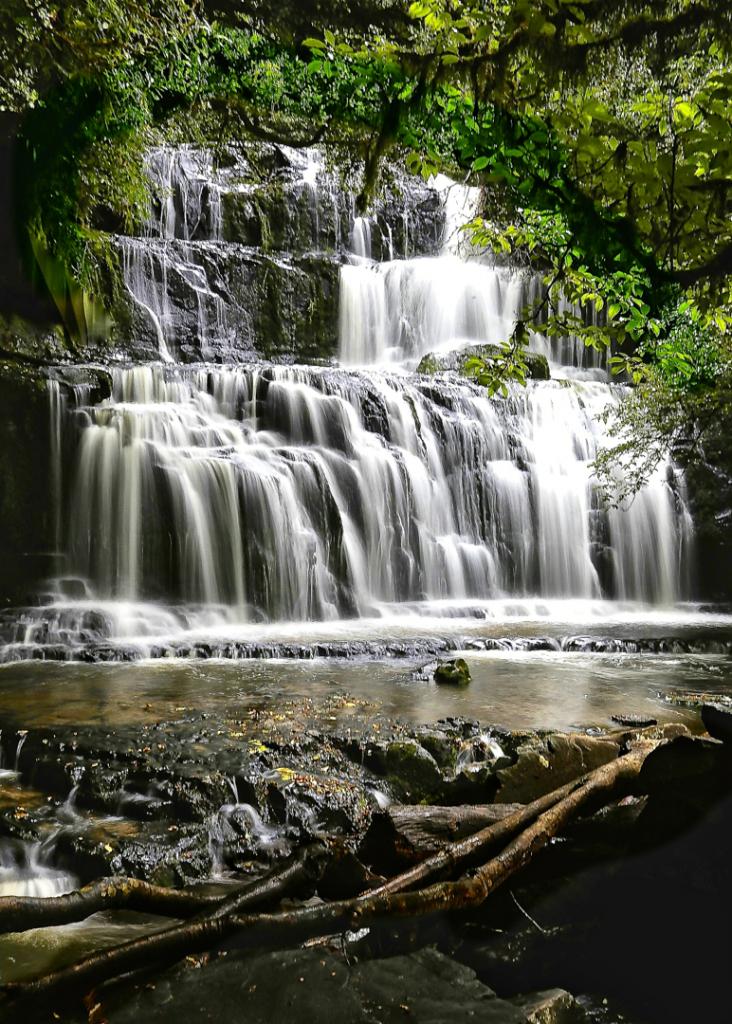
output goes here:
[{"label": "longest fallen branch, running diagonally across the whole foreground", "polygon": [[[4,986],[7,996],[30,996],[48,998],[89,989],[140,968],[169,966],[185,955],[210,950],[225,940],[235,938],[242,948],[272,949],[298,945],[306,939],[337,934],[347,930],[370,927],[385,918],[424,915],[437,911],[453,911],[476,906],[515,871],[523,867],[552,837],[556,836],[585,806],[598,798],[607,801],[618,786],[635,778],[650,753],[650,745],[632,752],[616,761],[603,765],[576,783],[562,786],[562,794],[555,803],[517,836],[497,857],[478,867],[471,876],[458,882],[441,882],[416,892],[400,892],[412,885],[416,872],[424,869],[419,865],[412,871],[393,879],[368,894],[353,899],[341,900],[317,906],[299,907],[292,910],[264,914],[241,914],[229,912],[219,915],[209,914],[199,921],[177,925],[154,935],[135,939],[102,952],[88,956],[71,967],[55,971],[36,981]],[[569,791],[568,793],[566,791]],[[549,795],[549,797],[555,795]],[[471,837],[455,844],[459,854],[449,856],[440,852],[430,858],[433,862],[428,873],[446,866],[462,866],[484,844],[484,834],[506,827],[506,822],[533,813],[537,805],[547,803],[549,797],[534,801],[524,811],[511,815],[481,836]],[[427,864],[428,862],[425,862]],[[420,878],[426,877],[424,874]],[[241,908],[241,907],[240,907]]]}]

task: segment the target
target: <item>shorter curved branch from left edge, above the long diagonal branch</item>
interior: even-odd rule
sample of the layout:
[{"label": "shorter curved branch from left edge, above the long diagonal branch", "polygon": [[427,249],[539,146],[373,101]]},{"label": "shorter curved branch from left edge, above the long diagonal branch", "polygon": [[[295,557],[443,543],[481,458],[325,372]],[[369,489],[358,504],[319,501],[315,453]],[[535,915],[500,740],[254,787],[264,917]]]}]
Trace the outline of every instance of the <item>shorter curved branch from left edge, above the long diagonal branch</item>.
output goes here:
[{"label": "shorter curved branch from left edge, above the long diagonal branch", "polygon": [[166,889],[139,879],[101,879],[63,896],[0,897],[0,934],[26,932],[84,921],[100,910],[138,910],[166,918],[205,913],[219,916],[258,906],[292,892],[312,874],[312,863],[324,847],[306,847],[274,873],[238,886],[224,897],[184,889]]}]

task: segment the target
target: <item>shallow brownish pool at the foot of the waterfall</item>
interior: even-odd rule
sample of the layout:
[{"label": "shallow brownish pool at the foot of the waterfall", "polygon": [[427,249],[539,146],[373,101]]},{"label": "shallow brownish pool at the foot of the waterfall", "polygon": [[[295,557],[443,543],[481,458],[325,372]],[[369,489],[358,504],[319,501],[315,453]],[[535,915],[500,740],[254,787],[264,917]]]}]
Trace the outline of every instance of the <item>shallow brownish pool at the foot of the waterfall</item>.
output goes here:
[{"label": "shallow brownish pool at the foot of the waterfall", "polygon": [[[191,711],[271,710],[348,693],[338,711],[324,702],[327,729],[344,719],[448,716],[511,729],[611,726],[613,715],[698,723],[696,711],[669,701],[675,693],[732,695],[732,658],[722,654],[627,654],[562,651],[460,651],[472,683],[437,686],[426,659],[308,658],[156,660],[81,665],[18,663],[0,668],[0,720],[34,728],[121,726],[171,720]],[[453,656],[453,655],[450,655]],[[426,671],[425,671],[426,670]]]}]

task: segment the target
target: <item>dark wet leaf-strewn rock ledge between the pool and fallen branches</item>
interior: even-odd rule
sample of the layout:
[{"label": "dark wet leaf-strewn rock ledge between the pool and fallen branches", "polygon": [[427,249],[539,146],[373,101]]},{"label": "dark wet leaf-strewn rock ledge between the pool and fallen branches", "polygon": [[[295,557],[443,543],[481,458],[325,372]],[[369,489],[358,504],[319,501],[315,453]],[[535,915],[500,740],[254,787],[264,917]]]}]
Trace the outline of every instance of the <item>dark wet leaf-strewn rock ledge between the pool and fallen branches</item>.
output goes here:
[{"label": "dark wet leaf-strewn rock ledge between the pool and fallen branches", "polygon": [[327,734],[295,706],[266,720],[195,715],[115,731],[6,725],[0,763],[16,769],[17,793],[0,806],[0,835],[50,835],[54,864],[81,881],[180,885],[251,870],[324,833],[355,850],[394,799],[490,801],[521,738],[463,720]]}]

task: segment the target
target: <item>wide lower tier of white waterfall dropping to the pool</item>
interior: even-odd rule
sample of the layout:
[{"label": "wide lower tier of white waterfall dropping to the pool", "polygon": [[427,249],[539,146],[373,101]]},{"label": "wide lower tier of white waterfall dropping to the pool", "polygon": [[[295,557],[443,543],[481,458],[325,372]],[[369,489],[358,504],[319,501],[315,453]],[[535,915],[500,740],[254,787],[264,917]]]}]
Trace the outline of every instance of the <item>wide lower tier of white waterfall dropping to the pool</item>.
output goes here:
[{"label": "wide lower tier of white waterfall dropping to the pool", "polygon": [[[70,570],[101,599],[333,620],[403,602],[670,604],[692,526],[671,463],[601,507],[598,416],[621,391],[304,367],[146,366],[68,413]],[[68,425],[67,429],[72,429]]]}]

